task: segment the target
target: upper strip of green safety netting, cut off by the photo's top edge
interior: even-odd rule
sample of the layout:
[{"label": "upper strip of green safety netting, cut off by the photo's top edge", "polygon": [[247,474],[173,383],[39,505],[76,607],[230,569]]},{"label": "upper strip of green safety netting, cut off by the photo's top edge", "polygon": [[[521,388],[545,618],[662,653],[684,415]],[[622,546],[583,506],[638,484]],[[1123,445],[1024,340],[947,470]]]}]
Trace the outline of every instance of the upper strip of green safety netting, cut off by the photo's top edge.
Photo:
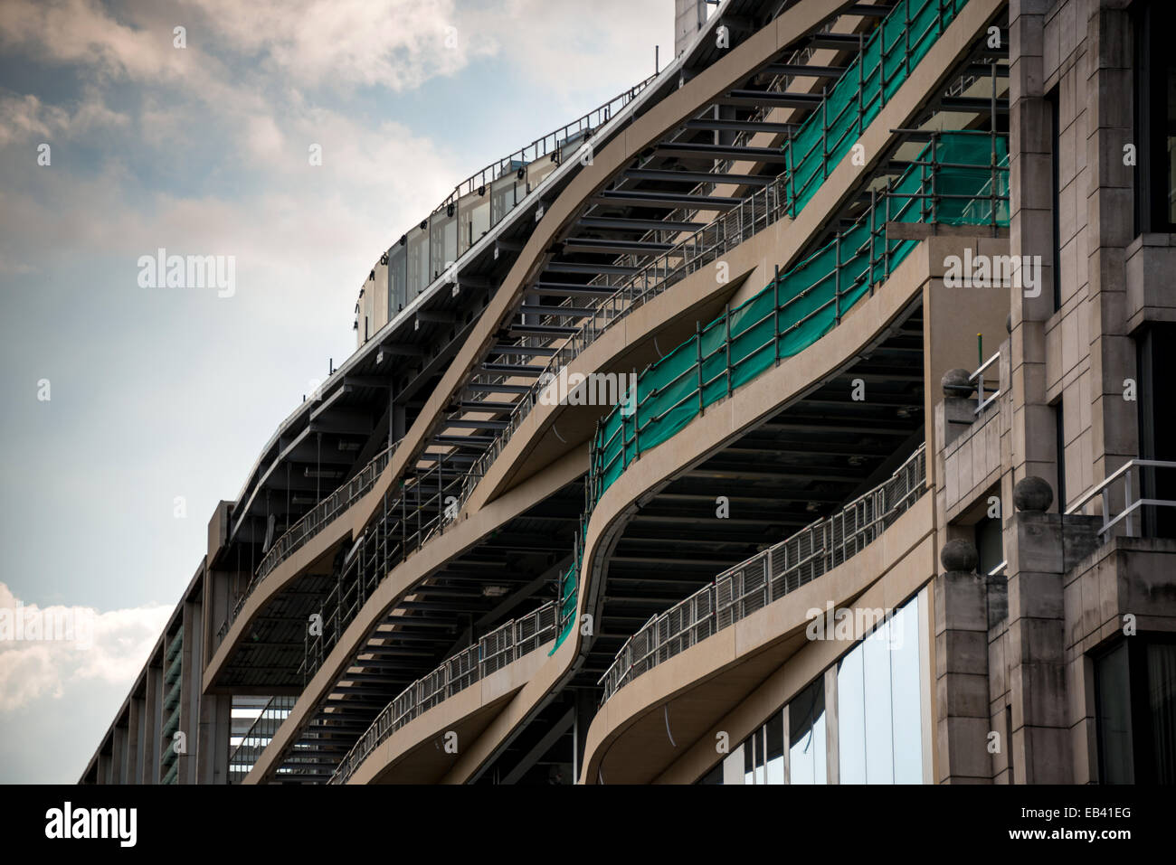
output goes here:
[{"label": "upper strip of green safety netting, cut off by the photo's top edge", "polygon": [[788,149],[795,215],[898,90],[968,0],[900,0],[842,73]]}]

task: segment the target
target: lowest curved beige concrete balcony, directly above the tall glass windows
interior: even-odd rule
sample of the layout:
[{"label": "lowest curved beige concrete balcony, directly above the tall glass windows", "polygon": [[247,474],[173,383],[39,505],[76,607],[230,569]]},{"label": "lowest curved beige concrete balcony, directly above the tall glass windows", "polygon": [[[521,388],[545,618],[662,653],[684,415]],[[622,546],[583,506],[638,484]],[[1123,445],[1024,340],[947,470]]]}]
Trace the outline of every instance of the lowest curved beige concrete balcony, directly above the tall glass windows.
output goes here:
[{"label": "lowest curved beige concrete balcony, directly above the tall glass windows", "polygon": [[624,684],[593,719],[579,780],[702,777],[722,757],[717,733],[741,740],[851,648],[809,639],[813,610],[897,609],[935,576],[933,511],[922,496],[853,558]]}]

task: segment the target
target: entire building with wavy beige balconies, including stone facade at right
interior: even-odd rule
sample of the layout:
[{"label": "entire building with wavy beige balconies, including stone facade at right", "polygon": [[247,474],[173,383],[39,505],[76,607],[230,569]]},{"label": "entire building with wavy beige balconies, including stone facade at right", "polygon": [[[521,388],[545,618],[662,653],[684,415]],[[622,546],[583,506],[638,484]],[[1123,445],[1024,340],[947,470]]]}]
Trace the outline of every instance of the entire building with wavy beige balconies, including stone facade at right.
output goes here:
[{"label": "entire building with wavy beige balconies, including stone facade at right", "polygon": [[81,780],[1176,779],[1169,6],[667,4],[380,252]]}]

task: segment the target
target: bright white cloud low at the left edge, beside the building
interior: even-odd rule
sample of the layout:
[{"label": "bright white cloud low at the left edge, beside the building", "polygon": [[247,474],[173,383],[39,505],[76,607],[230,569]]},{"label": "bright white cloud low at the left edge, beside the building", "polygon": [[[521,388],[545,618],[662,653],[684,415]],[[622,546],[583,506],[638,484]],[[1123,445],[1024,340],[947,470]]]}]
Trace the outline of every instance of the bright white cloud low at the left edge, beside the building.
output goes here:
[{"label": "bright white cloud low at the left edge, beside the building", "polygon": [[41,608],[24,604],[0,583],[0,715],[45,698],[49,710],[68,704],[81,683],[129,688],[171,612],[161,604],[107,612]]}]

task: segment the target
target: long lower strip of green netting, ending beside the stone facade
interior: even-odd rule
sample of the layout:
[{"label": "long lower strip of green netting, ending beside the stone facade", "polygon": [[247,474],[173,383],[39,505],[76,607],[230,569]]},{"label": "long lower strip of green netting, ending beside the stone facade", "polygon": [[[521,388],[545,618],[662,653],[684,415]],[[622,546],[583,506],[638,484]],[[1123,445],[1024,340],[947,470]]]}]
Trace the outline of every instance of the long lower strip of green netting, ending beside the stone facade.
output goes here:
[{"label": "long lower strip of green netting, ending beside the stone facade", "polygon": [[[935,166],[926,165],[933,156]],[[626,401],[601,421],[593,461],[596,498],[640,454],[779,358],[811,346],[884,280],[916,246],[886,239],[887,221],[991,224],[995,206],[995,222],[1008,224],[1007,165],[1004,136],[935,136],[891,194],[851,229],[646,369],[637,378],[635,409],[627,411],[624,405],[634,403]],[[936,197],[924,197],[931,194]]]}]

